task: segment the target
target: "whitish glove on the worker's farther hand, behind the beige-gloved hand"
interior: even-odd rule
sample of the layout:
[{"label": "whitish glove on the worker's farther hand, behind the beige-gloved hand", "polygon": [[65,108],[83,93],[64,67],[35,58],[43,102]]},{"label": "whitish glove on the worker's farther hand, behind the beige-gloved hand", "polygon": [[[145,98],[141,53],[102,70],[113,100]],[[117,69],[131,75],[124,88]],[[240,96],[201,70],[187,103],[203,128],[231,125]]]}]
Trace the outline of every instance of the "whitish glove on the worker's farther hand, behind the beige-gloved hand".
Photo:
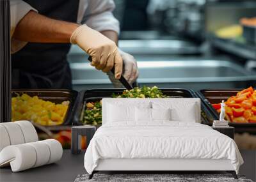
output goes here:
[{"label": "whitish glove on the worker's farther hand, behind the beige-gloved hand", "polygon": [[[128,54],[120,49],[118,49],[118,52],[120,53],[124,63],[123,76],[130,84],[132,84],[139,77],[137,61],[131,54]],[[114,87],[116,88],[124,87],[121,84],[121,82],[119,82],[119,80],[115,79],[115,77],[113,76],[113,73],[108,72],[107,74],[108,74],[109,80],[111,80]]]}]

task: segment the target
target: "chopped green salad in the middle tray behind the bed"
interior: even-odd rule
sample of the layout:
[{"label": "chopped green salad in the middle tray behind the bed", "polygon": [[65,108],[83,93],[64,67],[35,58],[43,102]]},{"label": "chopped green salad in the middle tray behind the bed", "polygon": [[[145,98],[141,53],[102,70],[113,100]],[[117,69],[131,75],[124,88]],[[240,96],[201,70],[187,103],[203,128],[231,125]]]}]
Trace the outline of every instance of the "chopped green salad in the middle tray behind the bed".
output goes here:
[{"label": "chopped green salad in the middle tray behind the bed", "polygon": [[[116,95],[113,93],[113,98],[166,98],[162,91],[157,86],[141,88],[134,87],[134,89],[125,89],[122,94]],[[86,103],[86,109],[84,110],[83,124],[84,125],[101,125],[102,113],[101,113],[101,100],[99,102]]]}]

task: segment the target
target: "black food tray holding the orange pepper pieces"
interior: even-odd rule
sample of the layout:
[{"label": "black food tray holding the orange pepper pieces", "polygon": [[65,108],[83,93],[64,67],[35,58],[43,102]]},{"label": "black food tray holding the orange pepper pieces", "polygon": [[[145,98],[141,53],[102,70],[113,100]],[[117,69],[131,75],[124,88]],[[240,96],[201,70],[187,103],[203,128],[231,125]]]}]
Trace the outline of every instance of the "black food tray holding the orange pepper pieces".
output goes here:
[{"label": "black food tray holding the orange pepper pieces", "polygon": [[[221,103],[222,100],[227,100],[230,96],[235,96],[243,89],[202,89],[196,94],[201,98],[202,102],[207,107],[207,110],[212,113],[214,119],[218,120],[220,114],[212,107],[212,103]],[[229,126],[234,126],[237,133],[256,133],[256,123],[228,123]]]}]

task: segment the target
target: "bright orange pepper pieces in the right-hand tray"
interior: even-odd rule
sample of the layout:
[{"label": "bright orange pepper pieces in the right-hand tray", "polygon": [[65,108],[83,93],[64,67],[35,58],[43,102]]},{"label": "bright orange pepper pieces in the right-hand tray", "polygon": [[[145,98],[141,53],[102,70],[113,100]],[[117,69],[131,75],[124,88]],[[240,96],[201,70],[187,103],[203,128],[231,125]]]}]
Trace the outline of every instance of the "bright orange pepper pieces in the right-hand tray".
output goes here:
[{"label": "bright orange pepper pieces in the right-hand tray", "polygon": [[[220,113],[220,103],[212,104]],[[233,123],[256,123],[256,90],[248,87],[225,102],[225,118]]]}]

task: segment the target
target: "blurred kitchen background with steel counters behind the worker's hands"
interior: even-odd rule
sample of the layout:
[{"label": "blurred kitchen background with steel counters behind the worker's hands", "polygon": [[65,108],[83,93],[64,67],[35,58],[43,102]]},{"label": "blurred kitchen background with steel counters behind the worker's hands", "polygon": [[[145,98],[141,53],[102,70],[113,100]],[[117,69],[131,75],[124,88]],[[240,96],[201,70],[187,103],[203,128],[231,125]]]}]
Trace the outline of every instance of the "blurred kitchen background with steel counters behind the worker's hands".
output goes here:
[{"label": "blurred kitchen background with steel counters behind the worker's hands", "polygon": [[[256,1],[115,3],[121,27],[119,47],[138,61],[140,86],[195,91],[255,86],[256,20],[249,18],[256,17]],[[113,87],[87,57],[72,45],[68,60],[74,89]]]}]

